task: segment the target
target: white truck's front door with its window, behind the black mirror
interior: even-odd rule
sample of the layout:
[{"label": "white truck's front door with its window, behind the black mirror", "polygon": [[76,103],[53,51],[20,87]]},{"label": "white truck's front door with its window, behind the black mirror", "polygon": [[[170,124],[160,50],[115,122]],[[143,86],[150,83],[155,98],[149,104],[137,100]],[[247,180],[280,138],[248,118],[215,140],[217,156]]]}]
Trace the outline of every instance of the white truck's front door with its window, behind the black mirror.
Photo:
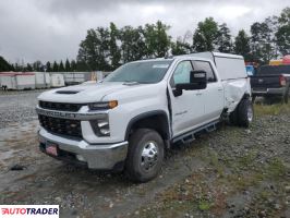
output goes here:
[{"label": "white truck's front door with its window, behind the black mirror", "polygon": [[204,101],[201,99],[201,90],[182,90],[182,95],[174,96],[173,89],[177,84],[190,83],[193,65],[190,60],[181,61],[174,69],[170,78],[170,99],[172,109],[173,136],[191,131],[203,121]]}]

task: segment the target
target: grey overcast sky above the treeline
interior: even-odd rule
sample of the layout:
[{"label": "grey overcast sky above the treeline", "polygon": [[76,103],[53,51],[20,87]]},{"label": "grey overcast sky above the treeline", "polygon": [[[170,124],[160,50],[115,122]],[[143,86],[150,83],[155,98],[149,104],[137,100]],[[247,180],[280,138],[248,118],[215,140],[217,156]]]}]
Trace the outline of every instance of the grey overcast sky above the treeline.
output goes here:
[{"label": "grey overcast sky above the treeline", "polygon": [[160,20],[178,37],[213,16],[235,35],[289,5],[289,0],[1,0],[0,56],[20,63],[75,59],[86,31],[110,22],[122,27]]}]

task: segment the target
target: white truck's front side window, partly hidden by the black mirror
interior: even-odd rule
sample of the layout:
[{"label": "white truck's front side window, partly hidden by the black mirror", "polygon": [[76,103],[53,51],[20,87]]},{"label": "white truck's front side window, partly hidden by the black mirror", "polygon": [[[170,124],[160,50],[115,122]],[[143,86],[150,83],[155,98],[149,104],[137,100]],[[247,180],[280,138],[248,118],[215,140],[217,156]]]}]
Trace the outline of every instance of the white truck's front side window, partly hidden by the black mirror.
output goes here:
[{"label": "white truck's front side window, partly hidden by the black mirror", "polygon": [[173,76],[171,77],[170,81],[171,87],[180,83],[190,83],[192,70],[193,68],[190,61],[180,62],[174,70]]}]

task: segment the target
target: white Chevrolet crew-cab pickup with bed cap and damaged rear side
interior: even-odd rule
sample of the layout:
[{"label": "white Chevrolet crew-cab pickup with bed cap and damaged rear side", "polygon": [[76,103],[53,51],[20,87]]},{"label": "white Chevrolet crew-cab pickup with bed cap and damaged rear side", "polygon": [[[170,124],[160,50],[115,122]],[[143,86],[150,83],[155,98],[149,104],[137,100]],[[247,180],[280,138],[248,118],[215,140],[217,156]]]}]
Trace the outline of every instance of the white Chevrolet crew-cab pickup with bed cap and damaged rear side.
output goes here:
[{"label": "white Chevrolet crew-cab pickup with bed cap and damaged rear side", "polygon": [[201,52],[126,63],[102,82],[52,89],[36,107],[40,150],[136,182],[160,171],[165,149],[228,119],[249,126],[251,86],[241,56]]}]

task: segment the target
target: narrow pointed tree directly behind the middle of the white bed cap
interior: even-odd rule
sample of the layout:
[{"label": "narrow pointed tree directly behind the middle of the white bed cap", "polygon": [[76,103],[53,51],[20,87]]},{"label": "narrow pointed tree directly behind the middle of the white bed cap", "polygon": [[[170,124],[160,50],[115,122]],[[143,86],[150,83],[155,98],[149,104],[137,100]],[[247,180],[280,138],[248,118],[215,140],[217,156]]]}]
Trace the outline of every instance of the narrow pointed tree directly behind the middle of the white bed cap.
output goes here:
[{"label": "narrow pointed tree directly behind the middle of the white bed cap", "polygon": [[230,29],[227,24],[223,23],[218,26],[217,39],[216,39],[217,50],[225,53],[232,52],[232,40],[230,35]]}]

